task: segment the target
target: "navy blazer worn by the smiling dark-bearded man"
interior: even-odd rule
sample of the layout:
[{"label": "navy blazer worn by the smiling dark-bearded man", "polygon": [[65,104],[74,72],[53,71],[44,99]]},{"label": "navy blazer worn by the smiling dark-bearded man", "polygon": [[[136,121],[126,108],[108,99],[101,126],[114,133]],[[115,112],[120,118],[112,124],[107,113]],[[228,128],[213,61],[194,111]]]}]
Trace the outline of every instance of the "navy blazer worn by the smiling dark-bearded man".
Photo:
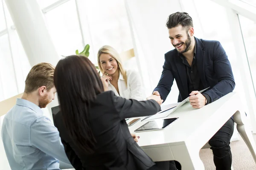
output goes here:
[{"label": "navy blazer worn by the smiling dark-bearded man", "polygon": [[[198,74],[204,88],[210,89],[203,94],[207,94],[211,102],[230,93],[235,88],[235,80],[227,54],[221,43],[214,40],[196,41],[196,65]],[[178,56],[176,49],[165,54],[163,72],[154,91],[158,91],[163,100],[171,91],[173,81],[176,81],[179,89],[178,102],[189,96],[188,83],[186,77],[186,65]],[[198,91],[202,89],[197,89]]]}]

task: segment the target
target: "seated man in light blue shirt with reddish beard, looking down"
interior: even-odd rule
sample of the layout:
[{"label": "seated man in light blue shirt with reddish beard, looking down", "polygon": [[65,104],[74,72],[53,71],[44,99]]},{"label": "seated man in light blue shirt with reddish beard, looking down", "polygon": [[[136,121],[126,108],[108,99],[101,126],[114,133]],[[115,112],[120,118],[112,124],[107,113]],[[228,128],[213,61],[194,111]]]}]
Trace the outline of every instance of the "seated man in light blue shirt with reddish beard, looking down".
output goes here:
[{"label": "seated man in light blue shirt with reddish beard, looking down", "polygon": [[1,136],[12,170],[60,170],[58,160],[70,164],[58,129],[41,109],[54,100],[54,70],[49,63],[33,66],[23,96],[3,119]]}]

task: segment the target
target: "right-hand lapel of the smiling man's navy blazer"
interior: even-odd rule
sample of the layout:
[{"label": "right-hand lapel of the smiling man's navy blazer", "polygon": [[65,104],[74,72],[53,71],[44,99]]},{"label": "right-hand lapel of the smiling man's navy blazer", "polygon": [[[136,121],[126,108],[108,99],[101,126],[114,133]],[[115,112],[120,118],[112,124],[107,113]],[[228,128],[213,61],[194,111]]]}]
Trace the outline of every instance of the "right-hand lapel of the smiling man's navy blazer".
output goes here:
[{"label": "right-hand lapel of the smiling man's navy blazer", "polygon": [[196,40],[196,66],[198,68],[198,74],[200,75],[201,82],[204,88],[207,88],[207,82],[204,74],[204,45],[203,43],[195,38]]}]

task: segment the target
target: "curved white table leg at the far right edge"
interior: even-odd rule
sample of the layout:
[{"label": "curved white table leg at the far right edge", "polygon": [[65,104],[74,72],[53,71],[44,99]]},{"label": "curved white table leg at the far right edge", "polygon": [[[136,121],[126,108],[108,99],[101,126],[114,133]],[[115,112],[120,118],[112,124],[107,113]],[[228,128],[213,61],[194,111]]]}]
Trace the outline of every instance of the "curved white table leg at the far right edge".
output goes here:
[{"label": "curved white table leg at the far right edge", "polygon": [[236,128],[238,130],[238,132],[240,133],[241,137],[244,139],[244,142],[247,144],[247,147],[249,148],[253,159],[256,163],[256,145],[253,139],[253,135],[250,131],[250,129],[248,129],[247,125],[245,122],[246,121],[246,117],[245,117],[245,113],[242,112],[240,113],[240,111],[236,111],[236,113],[234,114],[234,122],[236,122]]}]

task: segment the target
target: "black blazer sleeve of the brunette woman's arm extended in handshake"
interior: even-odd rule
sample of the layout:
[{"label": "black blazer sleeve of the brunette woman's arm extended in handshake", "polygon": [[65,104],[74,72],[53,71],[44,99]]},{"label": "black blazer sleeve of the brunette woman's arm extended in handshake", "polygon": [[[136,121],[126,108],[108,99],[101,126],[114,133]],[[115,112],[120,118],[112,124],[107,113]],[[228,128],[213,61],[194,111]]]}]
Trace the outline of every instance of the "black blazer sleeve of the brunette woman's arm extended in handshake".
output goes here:
[{"label": "black blazer sleeve of the brunette woman's arm extended in handshake", "polygon": [[131,117],[150,116],[160,111],[160,105],[153,99],[137,101],[135,99],[125,99],[111,93],[113,106],[121,120]]}]

